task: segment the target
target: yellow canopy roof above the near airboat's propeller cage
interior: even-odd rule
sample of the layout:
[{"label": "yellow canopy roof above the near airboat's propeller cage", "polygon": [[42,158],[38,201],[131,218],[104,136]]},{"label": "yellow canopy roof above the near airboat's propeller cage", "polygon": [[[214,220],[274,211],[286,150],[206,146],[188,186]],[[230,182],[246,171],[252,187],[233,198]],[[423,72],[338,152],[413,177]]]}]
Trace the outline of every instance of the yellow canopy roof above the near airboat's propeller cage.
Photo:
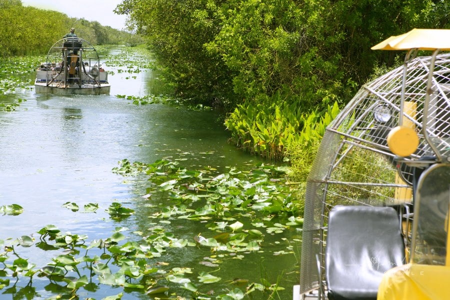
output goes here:
[{"label": "yellow canopy roof above the near airboat's propeller cage", "polygon": [[377,45],[372,50],[450,50],[450,29],[417,29],[393,35]]}]

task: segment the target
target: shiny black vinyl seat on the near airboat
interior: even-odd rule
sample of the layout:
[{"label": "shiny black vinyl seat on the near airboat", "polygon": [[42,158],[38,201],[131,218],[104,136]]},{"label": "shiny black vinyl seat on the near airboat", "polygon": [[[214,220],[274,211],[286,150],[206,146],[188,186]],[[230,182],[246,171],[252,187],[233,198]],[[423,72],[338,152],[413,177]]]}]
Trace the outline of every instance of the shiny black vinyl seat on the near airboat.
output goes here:
[{"label": "shiny black vinyl seat on the near airboat", "polygon": [[395,209],[341,205],[331,209],[325,249],[329,299],[376,299],[383,273],[404,260]]}]

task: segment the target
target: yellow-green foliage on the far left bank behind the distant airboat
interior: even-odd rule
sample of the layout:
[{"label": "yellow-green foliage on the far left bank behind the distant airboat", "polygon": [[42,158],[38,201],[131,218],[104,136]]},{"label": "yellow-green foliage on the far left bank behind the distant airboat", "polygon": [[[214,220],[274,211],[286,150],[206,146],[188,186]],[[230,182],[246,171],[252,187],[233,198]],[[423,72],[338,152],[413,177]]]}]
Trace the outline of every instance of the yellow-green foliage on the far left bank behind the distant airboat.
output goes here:
[{"label": "yellow-green foliage on the far left bank behind the distant airboat", "polygon": [[46,53],[70,27],[93,44],[119,44],[134,38],[129,32],[102,26],[97,21],[22,6],[20,0],[0,0],[0,15],[0,57]]}]

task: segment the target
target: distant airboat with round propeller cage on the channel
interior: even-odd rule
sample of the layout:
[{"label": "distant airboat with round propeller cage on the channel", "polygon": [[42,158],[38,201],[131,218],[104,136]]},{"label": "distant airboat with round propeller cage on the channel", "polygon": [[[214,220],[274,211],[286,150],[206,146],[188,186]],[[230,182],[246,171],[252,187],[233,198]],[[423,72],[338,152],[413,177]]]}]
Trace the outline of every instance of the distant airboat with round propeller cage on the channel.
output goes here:
[{"label": "distant airboat with round propeller cage on the channel", "polygon": [[66,37],[55,42],[36,71],[36,93],[108,94],[108,72],[95,48],[85,39]]}]

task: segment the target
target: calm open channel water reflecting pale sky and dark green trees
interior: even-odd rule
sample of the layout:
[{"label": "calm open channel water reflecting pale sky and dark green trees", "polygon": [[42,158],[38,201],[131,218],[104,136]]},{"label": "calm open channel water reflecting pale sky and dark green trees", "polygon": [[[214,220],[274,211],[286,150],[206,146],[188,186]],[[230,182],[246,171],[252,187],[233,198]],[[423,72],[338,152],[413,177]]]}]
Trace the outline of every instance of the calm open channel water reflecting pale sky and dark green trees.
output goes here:
[{"label": "calm open channel water reflecting pale sky and dark green trees", "polygon": [[[0,205],[15,203],[24,208],[19,215],[0,216],[0,239],[21,235],[37,238],[35,232],[46,224],[53,224],[63,232],[87,234],[88,240],[109,236],[111,229],[118,225],[127,226],[131,231],[152,226],[148,215],[159,207],[152,203],[156,208],[143,208],[145,182],[111,172],[124,158],[151,163],[168,157],[192,168],[212,166],[218,171],[226,166],[247,168],[260,161],[227,143],[227,132],[213,111],[190,111],[163,104],[138,106],[131,100],[116,97],[117,94],[143,96],[157,92],[152,84],[157,81],[157,73],[146,70],[133,74],[136,78],[127,79],[128,76],[117,71],[109,76],[110,95],[46,95],[35,94],[31,89],[0,97],[0,103],[26,99],[15,111],[0,111]],[[76,202],[80,207],[98,203],[100,208],[95,214],[72,212],[62,207],[65,202]],[[126,221],[116,222],[105,212],[111,202],[140,210]],[[176,229],[172,232],[184,238],[192,238],[204,230],[200,222],[174,222],[173,226]],[[298,232],[290,234],[298,235]],[[271,245],[276,247],[277,243]],[[54,256],[52,251],[35,247],[23,251],[38,266],[45,265]],[[182,255],[182,251],[174,249],[164,259],[174,266],[183,266],[208,255],[208,250],[195,257]],[[253,253],[237,267],[231,263],[221,267],[229,268],[228,279],[232,280],[245,276],[249,269],[261,272],[261,266],[265,265],[289,269],[295,263],[293,260],[291,256],[275,257],[271,252]],[[269,277],[276,280],[278,275],[274,272]],[[296,282],[289,282],[286,288],[292,284]],[[43,291],[39,280],[34,285],[42,297],[50,295]],[[120,291],[111,290],[112,294]],[[291,298],[289,292],[286,298]],[[106,288],[105,294],[87,295],[86,292],[80,296],[101,298],[108,294],[111,291]],[[133,297],[146,298],[139,293],[124,298]],[[1,294],[1,289],[0,298],[8,298]]]}]

